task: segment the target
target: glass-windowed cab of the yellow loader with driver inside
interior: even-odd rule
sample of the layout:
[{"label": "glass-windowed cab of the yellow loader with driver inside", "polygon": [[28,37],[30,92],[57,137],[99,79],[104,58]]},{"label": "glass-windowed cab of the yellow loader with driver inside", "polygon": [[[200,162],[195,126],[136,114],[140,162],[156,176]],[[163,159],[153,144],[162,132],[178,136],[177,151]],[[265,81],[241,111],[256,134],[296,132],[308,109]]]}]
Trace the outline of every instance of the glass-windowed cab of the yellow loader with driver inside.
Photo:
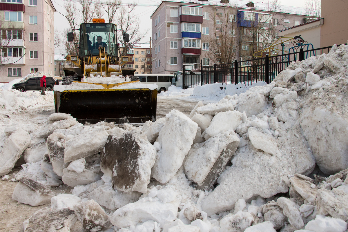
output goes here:
[{"label": "glass-windowed cab of the yellow loader with driver inside", "polygon": [[116,25],[113,23],[82,23],[80,25],[80,57],[98,56],[99,46],[117,57]]}]

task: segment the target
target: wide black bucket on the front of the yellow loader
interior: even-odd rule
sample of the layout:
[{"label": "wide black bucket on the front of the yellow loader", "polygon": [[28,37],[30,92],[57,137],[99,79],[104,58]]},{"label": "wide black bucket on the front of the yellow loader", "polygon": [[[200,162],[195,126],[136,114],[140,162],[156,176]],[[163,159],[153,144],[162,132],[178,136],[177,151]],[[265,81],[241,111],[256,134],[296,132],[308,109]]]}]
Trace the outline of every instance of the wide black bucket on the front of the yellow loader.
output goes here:
[{"label": "wide black bucket on the front of the yellow loader", "polygon": [[157,89],[66,89],[54,91],[55,112],[78,122],[121,124],[156,120]]}]

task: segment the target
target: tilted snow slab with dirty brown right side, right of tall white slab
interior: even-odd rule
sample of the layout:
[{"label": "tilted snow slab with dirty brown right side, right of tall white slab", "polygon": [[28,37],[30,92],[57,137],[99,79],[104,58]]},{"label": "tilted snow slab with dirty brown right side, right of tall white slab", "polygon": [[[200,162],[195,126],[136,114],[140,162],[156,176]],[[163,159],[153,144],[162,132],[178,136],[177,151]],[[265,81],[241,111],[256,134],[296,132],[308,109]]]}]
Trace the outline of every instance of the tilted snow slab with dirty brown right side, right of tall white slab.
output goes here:
[{"label": "tilted snow slab with dirty brown right side, right of tall white slab", "polygon": [[211,189],[239,143],[236,133],[228,130],[209,138],[198,149],[192,148],[189,151],[184,164],[185,174],[189,180],[195,182],[196,189]]}]

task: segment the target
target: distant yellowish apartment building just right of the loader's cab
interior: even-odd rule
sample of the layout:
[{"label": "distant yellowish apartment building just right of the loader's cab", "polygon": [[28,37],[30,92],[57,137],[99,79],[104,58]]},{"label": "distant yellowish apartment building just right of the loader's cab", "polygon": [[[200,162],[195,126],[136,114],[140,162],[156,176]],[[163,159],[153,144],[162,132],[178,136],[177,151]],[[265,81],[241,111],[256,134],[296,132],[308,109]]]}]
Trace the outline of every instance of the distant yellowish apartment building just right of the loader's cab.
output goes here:
[{"label": "distant yellowish apartment building just right of the loader's cab", "polygon": [[[133,56],[132,61],[128,62],[126,67],[135,69],[134,74],[151,73],[150,46],[135,45],[127,51],[127,56]],[[123,48],[121,48],[122,51]]]}]

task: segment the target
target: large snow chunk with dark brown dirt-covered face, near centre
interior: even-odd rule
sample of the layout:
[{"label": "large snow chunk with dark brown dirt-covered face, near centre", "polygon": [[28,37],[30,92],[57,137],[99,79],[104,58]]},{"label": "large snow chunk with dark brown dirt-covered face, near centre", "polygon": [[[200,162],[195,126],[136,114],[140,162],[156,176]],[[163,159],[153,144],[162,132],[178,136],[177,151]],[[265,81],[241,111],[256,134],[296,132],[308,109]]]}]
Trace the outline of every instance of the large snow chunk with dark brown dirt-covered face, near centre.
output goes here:
[{"label": "large snow chunk with dark brown dirt-covered face, near centre", "polygon": [[146,193],[155,158],[156,148],[135,128],[119,138],[108,137],[100,164],[112,177],[114,189]]}]

